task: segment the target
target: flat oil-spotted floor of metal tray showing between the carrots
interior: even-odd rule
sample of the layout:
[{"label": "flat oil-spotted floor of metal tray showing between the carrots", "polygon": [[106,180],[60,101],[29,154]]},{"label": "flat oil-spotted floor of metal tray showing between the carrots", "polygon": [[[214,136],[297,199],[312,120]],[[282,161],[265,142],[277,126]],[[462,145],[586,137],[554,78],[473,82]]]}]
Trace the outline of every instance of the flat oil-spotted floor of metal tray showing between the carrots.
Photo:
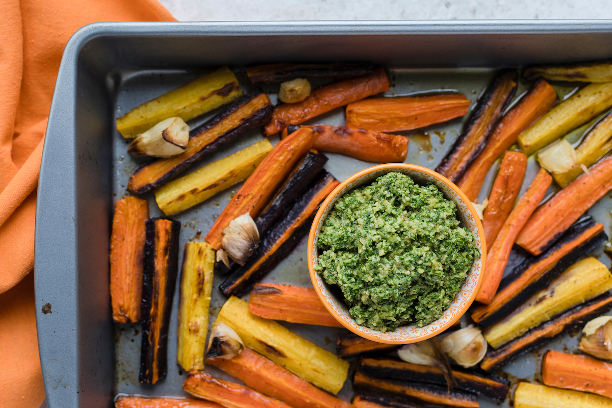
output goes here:
[{"label": "flat oil-spotted floor of metal tray showing between the carrots", "polygon": [[[245,93],[252,89],[252,86],[248,84],[248,80],[245,79],[244,69],[240,67],[231,67],[231,69],[237,73],[239,82]],[[130,111],[135,106],[140,105],[151,98],[157,97],[165,92],[168,92],[176,87],[182,86],[185,83],[197,78],[208,70],[198,71],[182,71],[182,70],[159,70],[159,71],[125,71],[119,73],[121,76],[121,85],[118,87],[113,108],[113,123],[114,119],[122,116],[123,114]],[[427,94],[428,92],[460,92],[465,94],[472,102],[476,102],[477,97],[482,93],[488,83],[495,74],[494,70],[491,69],[433,69],[433,70],[414,70],[414,69],[391,69],[390,76],[392,79],[392,87],[389,92],[385,95],[396,96],[396,95],[413,95],[413,94]],[[324,83],[324,80],[313,81],[313,86]],[[517,96],[520,97],[529,84],[520,83]],[[564,95],[569,94],[577,87],[577,84],[568,83],[553,83],[558,96],[560,99]],[[264,91],[270,96],[272,103],[276,103],[276,92],[278,90],[278,84],[272,84],[269,86],[262,87]],[[472,103],[472,108],[474,107]],[[193,128],[214,116],[216,113],[213,112],[204,117],[201,117],[195,121],[188,122]],[[466,116],[467,117],[467,116]],[[461,132],[461,125],[465,121],[466,117],[460,119],[454,119],[453,121],[446,122],[444,124],[433,125],[424,129],[415,130],[411,132],[403,132],[401,134],[409,136],[408,155],[406,156],[406,163],[412,163],[427,168],[435,168],[441,161],[442,157],[446,154],[455,139]],[[334,109],[327,114],[316,117],[307,124],[330,124],[330,125],[343,125],[345,123],[344,109]],[[216,152],[207,155],[200,162],[196,163],[195,166],[188,169],[187,172],[194,171],[201,166],[212,163],[212,161],[218,160],[226,155],[232,154],[237,150],[243,149],[244,147],[255,143],[259,139],[262,139],[259,128],[245,133],[239,136],[230,146],[222,146]],[[277,143],[278,137],[271,138],[272,144]],[[129,141],[122,138],[119,132],[113,132],[113,204],[121,198],[129,195],[127,193],[127,181],[130,174],[140,165],[144,160],[138,158],[134,159],[127,153],[127,145]],[[365,161],[356,160],[354,158],[346,157],[339,154],[326,153],[329,157],[325,168],[331,174],[333,174],[338,180],[342,181],[346,177],[351,176],[357,171],[368,168],[375,165],[376,163],[367,163]],[[539,169],[539,165],[535,158],[532,156],[529,158],[528,171],[525,176],[525,182],[521,188],[521,195],[526,191],[531,183],[531,180],[535,177]],[[495,173],[497,170],[496,165],[491,168],[488,174],[487,182],[483,186],[480,193],[479,201],[488,195],[490,190],[490,184],[492,183]],[[186,172],[185,172],[186,174]],[[211,199],[199,204],[198,206],[192,207],[184,212],[174,215],[174,218],[181,221],[181,248],[184,247],[186,242],[203,240],[207,232],[211,228],[214,220],[225,208],[229,202],[231,195],[240,188],[241,185],[235,185],[230,189],[219,193]],[[551,187],[550,193],[553,192],[554,187]],[[162,216],[157,204],[155,203],[154,196],[152,193],[144,195],[149,201],[149,211],[151,217]],[[605,226],[605,231],[608,236],[611,232],[612,219],[610,218],[610,204],[612,194],[608,193],[604,198],[600,199],[595,206],[589,210],[589,214],[595,218],[599,223]],[[304,237],[299,243],[293,253],[284,259],[278,266],[263,279],[264,282],[274,283],[286,283],[296,284],[299,286],[312,287],[310,278],[308,276],[308,267],[306,264],[306,244],[307,237]],[[610,259],[602,253],[603,247],[597,248],[594,251],[595,258],[600,259],[606,266],[610,267]],[[182,263],[182,250],[179,251],[179,265]],[[520,261],[521,255],[518,252],[512,253],[510,257],[509,266],[506,272],[509,272],[512,265],[515,262]],[[180,275],[180,274],[179,274]],[[218,314],[221,306],[225,302],[225,297],[218,291],[218,284],[223,280],[223,276],[215,276],[214,286],[212,291],[211,301],[211,318],[210,324],[215,321],[215,317]],[[140,395],[163,395],[163,396],[185,396],[187,395],[182,391],[182,383],[185,379],[185,373],[176,364],[176,326],[177,326],[177,310],[178,310],[178,291],[179,284],[177,283],[176,294],[174,295],[173,310],[170,321],[170,332],[168,341],[168,376],[165,380],[158,382],[155,385],[140,384],[138,382],[138,371],[140,368],[140,324],[114,324],[115,331],[115,346],[114,346],[114,358],[115,358],[115,378],[114,378],[114,391],[115,393],[126,393],[126,394],[140,394]],[[248,299],[248,296],[244,299]],[[311,325],[300,325],[300,324],[289,324],[280,322],[293,331],[297,335],[300,335],[316,345],[323,347],[324,349],[335,352],[335,343],[338,333],[346,332],[345,329],[341,328],[329,328],[323,326],[311,326]],[[463,317],[462,324],[466,325],[466,317]],[[548,344],[540,347],[535,352],[524,354],[521,357],[515,358],[512,362],[502,368],[510,379],[516,382],[517,379],[538,379],[540,360],[543,355],[543,351],[547,349],[556,349],[561,351],[572,351],[578,344],[578,336],[564,335],[551,341]],[[351,364],[351,371],[355,368],[355,362]],[[223,373],[219,369],[207,366],[206,371],[214,376],[222,377],[224,379],[233,380],[234,382],[241,382],[228,374]],[[343,389],[340,391],[338,396],[340,398],[350,401],[353,395],[351,387],[351,381],[348,380]],[[480,397],[479,398],[481,407],[509,407],[509,400],[506,399],[501,405],[491,399]]]}]

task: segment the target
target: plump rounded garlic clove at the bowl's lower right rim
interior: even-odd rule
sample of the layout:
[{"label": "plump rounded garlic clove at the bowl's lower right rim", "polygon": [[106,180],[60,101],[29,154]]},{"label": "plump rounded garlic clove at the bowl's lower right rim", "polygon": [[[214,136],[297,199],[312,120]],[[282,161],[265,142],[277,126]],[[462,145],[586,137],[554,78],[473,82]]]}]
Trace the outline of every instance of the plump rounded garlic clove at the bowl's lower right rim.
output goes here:
[{"label": "plump rounded garlic clove at the bowl's lower right rim", "polygon": [[472,324],[443,338],[440,347],[458,365],[465,368],[477,365],[487,353],[485,336]]}]

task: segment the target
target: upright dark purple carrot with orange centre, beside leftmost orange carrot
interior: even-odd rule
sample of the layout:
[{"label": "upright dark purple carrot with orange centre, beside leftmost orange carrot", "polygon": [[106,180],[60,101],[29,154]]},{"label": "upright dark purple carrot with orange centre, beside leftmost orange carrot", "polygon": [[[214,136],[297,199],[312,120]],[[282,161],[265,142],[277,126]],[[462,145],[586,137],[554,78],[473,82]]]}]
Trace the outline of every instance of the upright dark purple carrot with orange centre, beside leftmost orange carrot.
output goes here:
[{"label": "upright dark purple carrot with orange centre, beside leftmost orange carrot", "polygon": [[163,218],[146,221],[140,382],[155,384],[168,372],[168,329],[179,269],[181,223]]}]

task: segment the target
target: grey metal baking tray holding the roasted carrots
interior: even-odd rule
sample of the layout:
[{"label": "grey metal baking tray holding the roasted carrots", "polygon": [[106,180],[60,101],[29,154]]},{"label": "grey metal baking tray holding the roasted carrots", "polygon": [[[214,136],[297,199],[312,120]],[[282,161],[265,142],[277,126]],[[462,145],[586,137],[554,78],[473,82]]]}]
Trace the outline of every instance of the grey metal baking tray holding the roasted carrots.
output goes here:
[{"label": "grey metal baking tray holding the roasted carrots", "polygon": [[[156,385],[138,382],[140,325],[114,324],[108,291],[108,242],[114,202],[126,195],[138,165],[114,120],[219,65],[244,80],[244,66],[285,61],[371,61],[389,67],[387,94],[457,90],[472,101],[501,67],[612,57],[612,20],[593,21],[312,21],[300,23],[96,23],[67,44],[59,69],[45,138],[36,214],[35,291],[40,359],[50,408],[110,407],[116,393],[184,395],[184,373],[176,365],[176,311],[168,347],[168,377]],[[555,84],[560,95],[576,84]],[[521,84],[517,95],[526,89]],[[275,102],[275,87],[266,87]],[[206,119],[200,118],[190,125]],[[312,122],[342,124],[343,109]],[[410,136],[406,161],[434,168],[460,132],[461,119]],[[262,136],[259,130],[207,155],[205,165]],[[277,139],[272,139],[275,143]],[[343,180],[371,163],[328,154],[326,168]],[[189,171],[193,171],[192,168]],[[526,178],[537,163],[530,159]],[[494,175],[494,169],[489,179]],[[523,185],[526,189],[527,183]],[[181,246],[206,235],[231,191],[179,213]],[[487,186],[483,191],[487,190]],[[152,195],[151,215],[159,214]],[[589,213],[610,236],[612,196]],[[265,281],[310,286],[306,239]],[[181,251],[182,254],[182,251]],[[606,265],[610,261],[596,256]],[[179,259],[179,262],[181,260]],[[211,322],[223,297],[215,278]],[[177,285],[178,290],[179,285]],[[45,306],[43,308],[43,306]],[[46,312],[43,312],[43,310]],[[50,311],[49,311],[50,310]],[[343,329],[291,325],[300,336],[329,351]],[[565,336],[546,348],[574,347]],[[512,378],[533,379],[541,352],[523,355],[504,368]],[[215,375],[225,376],[214,368]],[[536,374],[537,378],[537,374]],[[340,396],[351,397],[349,382]],[[508,401],[502,406],[506,407]],[[480,398],[480,406],[498,406]]]}]

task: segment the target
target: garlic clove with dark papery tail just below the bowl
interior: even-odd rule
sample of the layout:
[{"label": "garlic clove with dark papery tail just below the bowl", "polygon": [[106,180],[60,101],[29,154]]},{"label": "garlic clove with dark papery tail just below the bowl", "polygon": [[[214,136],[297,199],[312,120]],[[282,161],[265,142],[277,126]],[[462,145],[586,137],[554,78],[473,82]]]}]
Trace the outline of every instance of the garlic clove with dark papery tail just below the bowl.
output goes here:
[{"label": "garlic clove with dark papery tail just below the bowl", "polygon": [[397,351],[397,355],[406,363],[420,364],[441,369],[444,373],[444,378],[446,378],[449,390],[457,387],[457,380],[453,377],[449,359],[442,352],[438,339],[435,337],[419,341],[418,343],[401,346]]}]

